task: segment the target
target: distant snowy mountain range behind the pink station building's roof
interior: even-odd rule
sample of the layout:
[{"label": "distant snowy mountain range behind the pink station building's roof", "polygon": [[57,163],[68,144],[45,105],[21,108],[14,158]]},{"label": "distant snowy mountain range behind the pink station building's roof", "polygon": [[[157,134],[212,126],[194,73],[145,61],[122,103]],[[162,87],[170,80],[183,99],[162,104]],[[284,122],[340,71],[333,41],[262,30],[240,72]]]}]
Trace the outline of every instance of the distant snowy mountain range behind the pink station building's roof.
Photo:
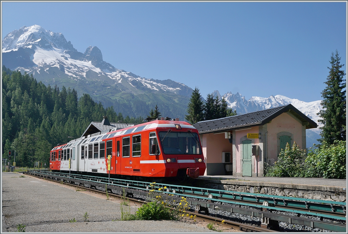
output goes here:
[{"label": "distant snowy mountain range behind the pink station building's roof", "polygon": [[307,129],[307,147],[311,147],[313,143],[318,144],[317,139],[321,138],[320,129],[323,124],[318,122],[319,116],[317,113],[322,110],[321,100],[313,102],[304,102],[298,99],[291,99],[283,95],[271,95],[269,98],[261,98],[257,96],[251,97],[249,100],[246,100],[244,96],[240,93],[233,94],[231,92],[224,95],[220,95],[219,91],[215,90],[213,92],[214,96],[219,96],[220,98],[224,97],[228,103],[228,106],[233,110],[236,110],[238,114],[245,114],[248,112],[265,110],[269,108],[285,106],[287,104],[292,104],[299,111],[305,114],[307,117],[312,119],[318,124],[317,128]]}]

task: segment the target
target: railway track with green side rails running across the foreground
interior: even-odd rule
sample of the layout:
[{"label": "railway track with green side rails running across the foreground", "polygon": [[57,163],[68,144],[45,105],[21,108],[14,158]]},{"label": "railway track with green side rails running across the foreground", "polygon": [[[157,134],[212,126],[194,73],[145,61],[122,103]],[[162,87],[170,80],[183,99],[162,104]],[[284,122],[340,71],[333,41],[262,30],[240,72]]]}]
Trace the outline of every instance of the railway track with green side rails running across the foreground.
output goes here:
[{"label": "railway track with green side rails running across the foreground", "polygon": [[[149,194],[149,182],[121,180],[114,178],[83,176],[66,173],[53,172],[34,172],[30,171],[27,174],[41,178],[51,179],[53,181],[88,189],[94,193],[106,194],[106,192],[96,189],[97,187],[104,188],[107,185],[110,192],[112,190],[125,190],[129,200],[135,203],[144,203],[145,200],[135,198],[136,196],[147,197]],[[76,184],[79,185],[76,185]],[[90,187],[86,187],[90,186]],[[274,232],[277,229],[277,224],[285,222],[289,224],[298,224],[312,228],[319,228],[335,232],[345,232],[346,224],[335,223],[333,220],[346,222],[346,203],[331,202],[322,200],[310,200],[294,197],[280,197],[263,194],[251,193],[236,193],[226,190],[198,188],[180,185],[156,184],[156,189],[164,188],[163,196],[165,200],[172,202],[180,202],[181,196],[187,198],[187,202],[193,208],[191,214],[197,216],[198,220],[205,221],[222,221],[221,218],[209,216],[209,210],[222,210],[231,213],[239,213],[251,217],[259,217],[261,225],[259,227],[253,225],[245,225],[226,217],[225,226],[243,231],[252,232]],[[111,194],[110,196],[118,197],[121,195]],[[174,196],[172,196],[174,195]],[[291,212],[289,214],[281,214],[279,212]],[[318,219],[300,217],[302,216],[316,216]],[[323,219],[332,221],[323,221]],[[221,220],[220,220],[221,219]]]}]

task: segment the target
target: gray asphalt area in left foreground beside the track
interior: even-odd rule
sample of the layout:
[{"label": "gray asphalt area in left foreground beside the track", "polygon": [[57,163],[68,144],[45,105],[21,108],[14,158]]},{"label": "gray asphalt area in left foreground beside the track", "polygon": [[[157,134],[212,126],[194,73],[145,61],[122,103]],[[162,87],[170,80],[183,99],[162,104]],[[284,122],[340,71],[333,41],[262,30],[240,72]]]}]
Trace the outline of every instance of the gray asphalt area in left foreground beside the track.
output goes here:
[{"label": "gray asphalt area in left foreground beside the track", "polygon": [[[1,232],[212,232],[202,221],[112,221],[121,218],[120,200],[37,179],[3,172]],[[138,205],[139,208],[139,205]],[[130,205],[134,213],[136,206]],[[87,212],[89,222],[83,222]],[[75,218],[77,223],[69,223]]]}]

